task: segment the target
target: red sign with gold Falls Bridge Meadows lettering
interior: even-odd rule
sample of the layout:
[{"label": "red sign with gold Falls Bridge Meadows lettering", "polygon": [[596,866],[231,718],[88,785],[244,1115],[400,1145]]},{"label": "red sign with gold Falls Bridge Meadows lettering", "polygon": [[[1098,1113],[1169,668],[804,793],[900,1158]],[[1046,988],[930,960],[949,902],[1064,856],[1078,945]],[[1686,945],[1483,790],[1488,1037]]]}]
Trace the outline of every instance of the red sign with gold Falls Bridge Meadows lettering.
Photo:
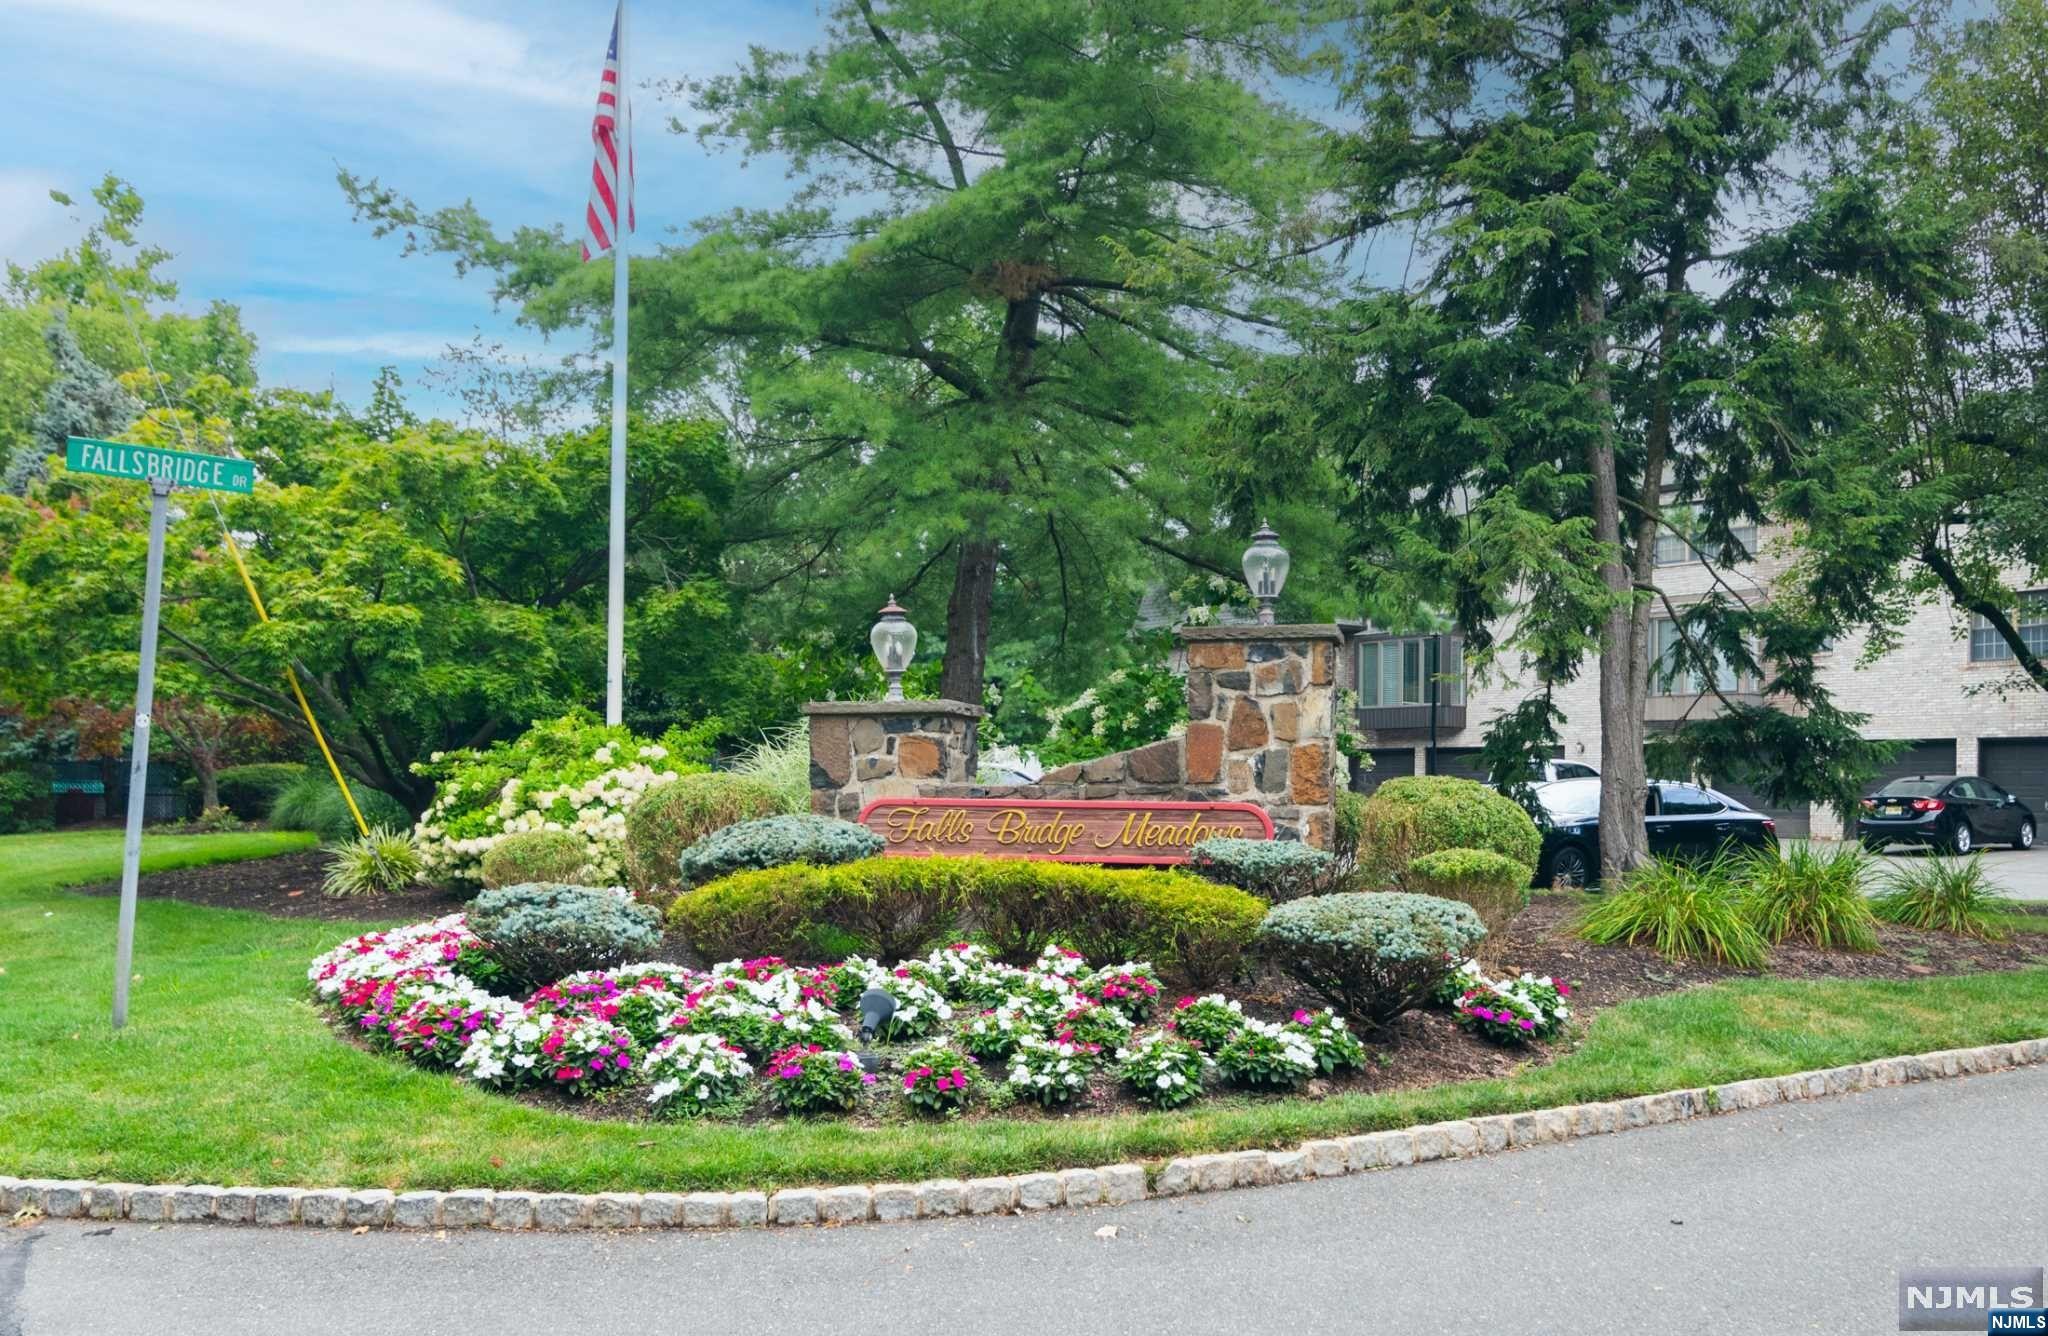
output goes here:
[{"label": "red sign with gold Falls Bridge Meadows lettering", "polygon": [[1270,840],[1253,803],[1124,803],[1116,799],[881,797],[860,824],[885,854],[985,854],[1055,863],[1186,863],[1202,840]]}]

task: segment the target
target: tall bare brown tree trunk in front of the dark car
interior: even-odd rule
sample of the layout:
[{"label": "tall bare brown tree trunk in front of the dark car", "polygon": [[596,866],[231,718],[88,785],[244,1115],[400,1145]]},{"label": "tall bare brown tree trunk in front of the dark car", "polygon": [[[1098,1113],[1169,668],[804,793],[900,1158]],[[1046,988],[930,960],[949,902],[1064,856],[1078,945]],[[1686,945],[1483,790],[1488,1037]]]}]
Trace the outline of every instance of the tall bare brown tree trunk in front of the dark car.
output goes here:
[{"label": "tall bare brown tree trunk in front of the dark car", "polygon": [[[1579,320],[1593,330],[1608,318],[1606,297],[1581,291]],[[1649,666],[1642,635],[1649,604],[1634,594],[1634,574],[1622,549],[1622,496],[1614,469],[1614,398],[1608,383],[1608,338],[1599,334],[1585,352],[1587,398],[1602,414],[1599,434],[1587,447],[1593,475],[1593,533],[1606,555],[1599,580],[1612,602],[1599,623],[1599,875],[1612,883],[1649,861],[1649,830],[1642,799],[1649,777],[1642,768],[1642,703]]]}]

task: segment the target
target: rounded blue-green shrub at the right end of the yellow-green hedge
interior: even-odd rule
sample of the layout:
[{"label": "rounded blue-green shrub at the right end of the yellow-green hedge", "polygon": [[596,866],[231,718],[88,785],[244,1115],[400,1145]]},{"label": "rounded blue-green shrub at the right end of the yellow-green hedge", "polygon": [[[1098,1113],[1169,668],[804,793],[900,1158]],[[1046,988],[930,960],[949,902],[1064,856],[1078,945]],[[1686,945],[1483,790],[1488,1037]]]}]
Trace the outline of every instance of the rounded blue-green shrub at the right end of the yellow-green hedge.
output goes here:
[{"label": "rounded blue-green shrub at the right end of the yellow-green hedge", "polygon": [[1485,934],[1454,900],[1354,891],[1274,906],[1260,949],[1354,1022],[1376,1027],[1427,1002]]}]

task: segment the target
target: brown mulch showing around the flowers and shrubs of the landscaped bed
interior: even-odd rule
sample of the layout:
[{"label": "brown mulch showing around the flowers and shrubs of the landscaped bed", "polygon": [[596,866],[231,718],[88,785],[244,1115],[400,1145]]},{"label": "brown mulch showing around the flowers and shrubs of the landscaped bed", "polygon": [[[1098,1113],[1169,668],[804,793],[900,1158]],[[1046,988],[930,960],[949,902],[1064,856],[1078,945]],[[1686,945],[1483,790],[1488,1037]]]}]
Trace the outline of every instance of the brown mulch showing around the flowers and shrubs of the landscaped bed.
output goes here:
[{"label": "brown mulch showing around the flowers and shrubs of the landscaped bed", "polygon": [[[391,920],[416,922],[453,914],[467,902],[465,891],[442,891],[420,887],[395,895],[373,900],[330,900],[319,893],[326,857],[317,850],[281,854],[274,859],[252,859],[246,863],[217,863],[211,867],[190,867],[168,873],[150,873],[141,879],[139,891],[152,900],[182,900],[211,908],[256,910],[279,918],[319,918],[319,920]],[[80,887],[88,895],[113,895],[119,883]],[[1516,916],[1501,936],[1493,959],[1497,971],[1513,967],[1536,975],[1552,975],[1573,986],[1573,1010],[1577,1016],[1591,1014],[1653,994],[1696,988],[1745,975],[1737,969],[1700,961],[1667,961],[1645,947],[1593,947],[1569,932],[1569,922],[1577,908],[1559,897],[1540,895],[1528,910]],[[1880,924],[1880,951],[1858,955],[1849,951],[1817,951],[1812,947],[1776,947],[1772,967],[1763,977],[1782,979],[1919,979],[1944,973],[1976,973],[1997,969],[2023,969],[2048,963],[2048,936],[2017,934],[2007,943],[1978,943],[1948,936],[1942,932],[1919,932]],[[686,943],[666,941],[662,959],[684,965],[700,965]],[[1249,982],[1233,984],[1225,990],[1243,1000],[1249,1014],[1284,1020],[1294,1008],[1319,1010],[1323,1002],[1296,986],[1292,979],[1260,969]],[[346,1025],[334,1025],[336,1035],[350,1043],[360,1037]],[[1409,1012],[1378,1035],[1366,1037],[1372,1051],[1372,1066],[1356,1076],[1315,1080],[1294,1096],[1247,1096],[1219,1092],[1221,1098],[1325,1098],[1343,1092],[1405,1090],[1438,1086],[1460,1080],[1505,1078],[1528,1066],[1554,1061],[1571,1051],[1573,1039],[1554,1043],[1532,1043],[1524,1049],[1507,1049],[1466,1035],[1444,1012]],[[905,1045],[915,1047],[915,1045]],[[999,1074],[997,1074],[999,1076]],[[641,1119],[635,1098],[580,1100],[551,1090],[522,1092],[514,1098],[522,1102],[573,1113],[592,1119]],[[1085,1096],[1040,1113],[1036,1104],[1018,1102],[999,1113],[969,1113],[975,1117],[1075,1117],[1114,1115],[1143,1109],[1110,1072],[1098,1072]],[[766,1104],[756,1104],[743,1123],[774,1121]],[[877,1082],[872,1098],[848,1121],[856,1125],[879,1125],[903,1121],[905,1113],[889,1090],[889,1080]]]}]

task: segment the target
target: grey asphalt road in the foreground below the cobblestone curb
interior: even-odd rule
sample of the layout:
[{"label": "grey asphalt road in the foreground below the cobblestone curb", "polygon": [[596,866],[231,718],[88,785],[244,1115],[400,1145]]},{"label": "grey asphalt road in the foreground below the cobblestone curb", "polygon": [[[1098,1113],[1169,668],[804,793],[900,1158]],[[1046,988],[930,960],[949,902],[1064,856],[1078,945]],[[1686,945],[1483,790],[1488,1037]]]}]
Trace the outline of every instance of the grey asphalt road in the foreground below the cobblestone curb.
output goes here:
[{"label": "grey asphalt road in the foreground below the cobblestone curb", "polygon": [[2044,1145],[2034,1068],[1034,1217],[588,1238],[43,1221],[0,1234],[0,1336],[1892,1332],[1898,1264],[2048,1264]]}]

